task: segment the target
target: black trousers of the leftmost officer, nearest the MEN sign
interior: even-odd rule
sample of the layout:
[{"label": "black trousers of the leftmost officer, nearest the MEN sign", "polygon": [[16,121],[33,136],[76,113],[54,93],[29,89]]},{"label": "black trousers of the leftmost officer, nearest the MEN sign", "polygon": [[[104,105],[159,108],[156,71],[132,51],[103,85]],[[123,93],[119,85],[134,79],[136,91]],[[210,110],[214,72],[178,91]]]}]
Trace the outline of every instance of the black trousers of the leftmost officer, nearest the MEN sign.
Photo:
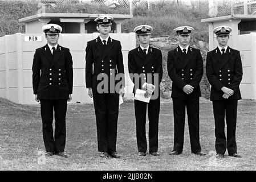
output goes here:
[{"label": "black trousers of the leftmost officer, nearest the MEN sign", "polygon": [[[67,100],[40,100],[46,152],[63,152],[66,144]],[[55,118],[53,134],[52,121]]]}]

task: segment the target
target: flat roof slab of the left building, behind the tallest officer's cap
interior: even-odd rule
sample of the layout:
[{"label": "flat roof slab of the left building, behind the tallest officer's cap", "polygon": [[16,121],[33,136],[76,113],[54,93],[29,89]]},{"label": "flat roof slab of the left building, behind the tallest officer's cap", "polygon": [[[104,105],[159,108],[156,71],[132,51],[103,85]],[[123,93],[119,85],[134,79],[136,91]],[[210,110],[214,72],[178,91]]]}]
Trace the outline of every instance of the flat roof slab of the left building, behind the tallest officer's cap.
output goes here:
[{"label": "flat roof slab of the left building, behind the tallest officer's cap", "polygon": [[[25,18],[19,19],[19,22],[26,23],[37,20],[39,18],[84,18],[84,19],[95,19],[104,14],[87,14],[87,13],[42,13],[32,16],[27,16]],[[133,15],[124,14],[108,14],[115,19],[131,19]]]}]

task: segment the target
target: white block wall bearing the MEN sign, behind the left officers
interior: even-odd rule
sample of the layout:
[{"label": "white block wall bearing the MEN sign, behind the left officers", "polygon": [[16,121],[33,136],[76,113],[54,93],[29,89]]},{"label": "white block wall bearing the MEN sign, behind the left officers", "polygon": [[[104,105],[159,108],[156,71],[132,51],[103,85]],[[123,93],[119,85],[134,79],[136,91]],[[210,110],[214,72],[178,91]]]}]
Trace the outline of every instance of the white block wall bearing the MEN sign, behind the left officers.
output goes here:
[{"label": "white block wall bearing the MEN sign, behind the left officers", "polygon": [[[72,101],[92,102],[85,84],[85,49],[87,42],[99,34],[61,34],[59,44],[70,48],[73,68],[74,87]],[[41,42],[25,42],[25,36],[42,36]],[[110,34],[111,38],[120,40],[125,68],[125,97],[131,98],[132,81],[128,76],[128,51],[135,48],[135,33]],[[36,104],[32,92],[32,60],[36,48],[46,44],[43,34],[15,34],[0,38],[0,97],[19,104]]]}]

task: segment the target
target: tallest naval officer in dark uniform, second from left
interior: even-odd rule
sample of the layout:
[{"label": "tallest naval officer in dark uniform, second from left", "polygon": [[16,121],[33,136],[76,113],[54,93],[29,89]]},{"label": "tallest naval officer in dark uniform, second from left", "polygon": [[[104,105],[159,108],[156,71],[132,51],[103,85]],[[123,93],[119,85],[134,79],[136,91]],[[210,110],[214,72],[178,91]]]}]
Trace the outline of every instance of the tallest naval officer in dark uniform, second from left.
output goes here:
[{"label": "tallest naval officer in dark uniform, second from left", "polygon": [[98,151],[102,158],[120,158],[116,137],[119,94],[124,96],[124,64],[120,41],[109,36],[112,21],[113,17],[108,15],[96,18],[100,35],[86,47],[86,88],[94,99]]}]

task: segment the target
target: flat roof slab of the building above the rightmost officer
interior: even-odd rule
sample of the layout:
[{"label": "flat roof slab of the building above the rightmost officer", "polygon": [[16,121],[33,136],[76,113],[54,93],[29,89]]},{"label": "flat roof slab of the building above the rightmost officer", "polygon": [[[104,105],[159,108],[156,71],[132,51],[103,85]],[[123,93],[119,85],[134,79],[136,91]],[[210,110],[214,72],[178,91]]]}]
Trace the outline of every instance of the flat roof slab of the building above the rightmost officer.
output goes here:
[{"label": "flat roof slab of the building above the rightmost officer", "polygon": [[256,19],[256,15],[228,15],[228,16],[220,16],[220,17],[214,17],[214,18],[206,18],[201,19],[201,22],[219,22],[223,20],[229,20],[229,19]]}]

